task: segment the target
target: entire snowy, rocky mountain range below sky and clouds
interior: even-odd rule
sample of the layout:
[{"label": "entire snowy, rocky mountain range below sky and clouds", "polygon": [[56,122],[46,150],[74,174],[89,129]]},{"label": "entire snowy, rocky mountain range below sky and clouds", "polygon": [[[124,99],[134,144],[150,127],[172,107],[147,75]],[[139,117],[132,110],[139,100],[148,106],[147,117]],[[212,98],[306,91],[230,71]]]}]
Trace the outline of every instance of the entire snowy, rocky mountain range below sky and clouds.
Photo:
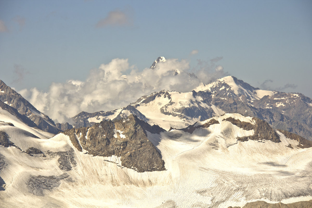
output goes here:
[{"label": "entire snowy, rocky mountain range below sky and clouds", "polygon": [[54,123],[0,81],[0,206],[312,207],[311,113],[227,76]]}]

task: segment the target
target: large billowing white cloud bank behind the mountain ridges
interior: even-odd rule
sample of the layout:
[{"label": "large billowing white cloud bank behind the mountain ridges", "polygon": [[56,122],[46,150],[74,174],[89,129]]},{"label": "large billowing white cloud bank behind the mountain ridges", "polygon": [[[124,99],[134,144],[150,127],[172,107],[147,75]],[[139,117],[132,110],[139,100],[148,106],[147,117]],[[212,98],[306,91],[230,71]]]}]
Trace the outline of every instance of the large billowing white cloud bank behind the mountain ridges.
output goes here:
[{"label": "large billowing white cloud bank behind the mountain ridges", "polygon": [[[197,67],[191,70],[187,60],[167,59],[158,63],[154,70],[138,70],[130,66],[127,59],[117,58],[90,70],[84,81],[52,83],[47,92],[32,88],[19,93],[56,122],[70,122],[70,118],[81,111],[118,109],[155,91],[189,92],[201,83],[207,84],[226,75],[213,61],[198,60]],[[181,73],[174,75],[176,69]],[[199,78],[191,76],[193,72]]]}]

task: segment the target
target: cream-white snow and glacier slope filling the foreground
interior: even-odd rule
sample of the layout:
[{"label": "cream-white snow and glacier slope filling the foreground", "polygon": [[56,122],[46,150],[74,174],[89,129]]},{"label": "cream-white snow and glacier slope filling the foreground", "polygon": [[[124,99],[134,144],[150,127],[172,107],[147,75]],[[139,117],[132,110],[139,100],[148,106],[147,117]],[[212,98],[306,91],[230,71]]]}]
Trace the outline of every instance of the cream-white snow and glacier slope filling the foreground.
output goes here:
[{"label": "cream-white snow and glacier slope filling the foreground", "polygon": [[[279,131],[276,142],[255,135],[259,122],[224,114],[182,130],[147,131],[166,168],[153,172],[122,167],[114,156],[80,152],[63,133],[38,139],[0,123],[0,131],[7,132],[16,146],[23,151],[35,147],[46,156],[0,146],[0,177],[6,184],[0,203],[3,207],[227,208],[258,200],[311,200],[312,148],[300,148],[299,142],[305,140],[286,138]],[[267,124],[265,128],[271,131]],[[255,140],[240,141],[253,135]]]}]

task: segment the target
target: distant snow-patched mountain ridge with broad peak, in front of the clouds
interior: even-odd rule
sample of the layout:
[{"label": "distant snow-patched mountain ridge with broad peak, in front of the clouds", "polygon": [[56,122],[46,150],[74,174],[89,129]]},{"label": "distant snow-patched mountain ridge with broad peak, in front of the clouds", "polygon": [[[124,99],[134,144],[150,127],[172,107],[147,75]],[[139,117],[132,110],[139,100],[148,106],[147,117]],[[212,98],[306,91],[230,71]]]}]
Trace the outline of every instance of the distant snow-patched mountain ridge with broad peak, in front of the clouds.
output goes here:
[{"label": "distant snow-patched mountain ridge with broad peak, in front of the clouds", "polygon": [[273,128],[312,139],[312,99],[300,93],[254,88],[233,76],[199,86],[192,92],[154,92],[113,111],[82,112],[72,118],[73,126],[88,127],[102,120],[126,118],[130,113],[166,130],[185,128],[224,113],[240,113],[263,119]]}]

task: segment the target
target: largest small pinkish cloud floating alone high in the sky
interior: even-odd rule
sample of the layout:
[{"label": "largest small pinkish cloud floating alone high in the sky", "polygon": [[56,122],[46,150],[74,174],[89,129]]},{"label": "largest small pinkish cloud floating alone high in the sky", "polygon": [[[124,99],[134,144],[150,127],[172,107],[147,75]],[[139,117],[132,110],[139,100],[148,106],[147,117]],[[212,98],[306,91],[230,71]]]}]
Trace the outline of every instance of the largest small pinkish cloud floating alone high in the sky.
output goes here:
[{"label": "largest small pinkish cloud floating alone high in the sky", "polygon": [[96,27],[107,27],[107,26],[131,26],[133,19],[128,11],[121,11],[119,9],[108,13],[107,17],[101,19]]}]

